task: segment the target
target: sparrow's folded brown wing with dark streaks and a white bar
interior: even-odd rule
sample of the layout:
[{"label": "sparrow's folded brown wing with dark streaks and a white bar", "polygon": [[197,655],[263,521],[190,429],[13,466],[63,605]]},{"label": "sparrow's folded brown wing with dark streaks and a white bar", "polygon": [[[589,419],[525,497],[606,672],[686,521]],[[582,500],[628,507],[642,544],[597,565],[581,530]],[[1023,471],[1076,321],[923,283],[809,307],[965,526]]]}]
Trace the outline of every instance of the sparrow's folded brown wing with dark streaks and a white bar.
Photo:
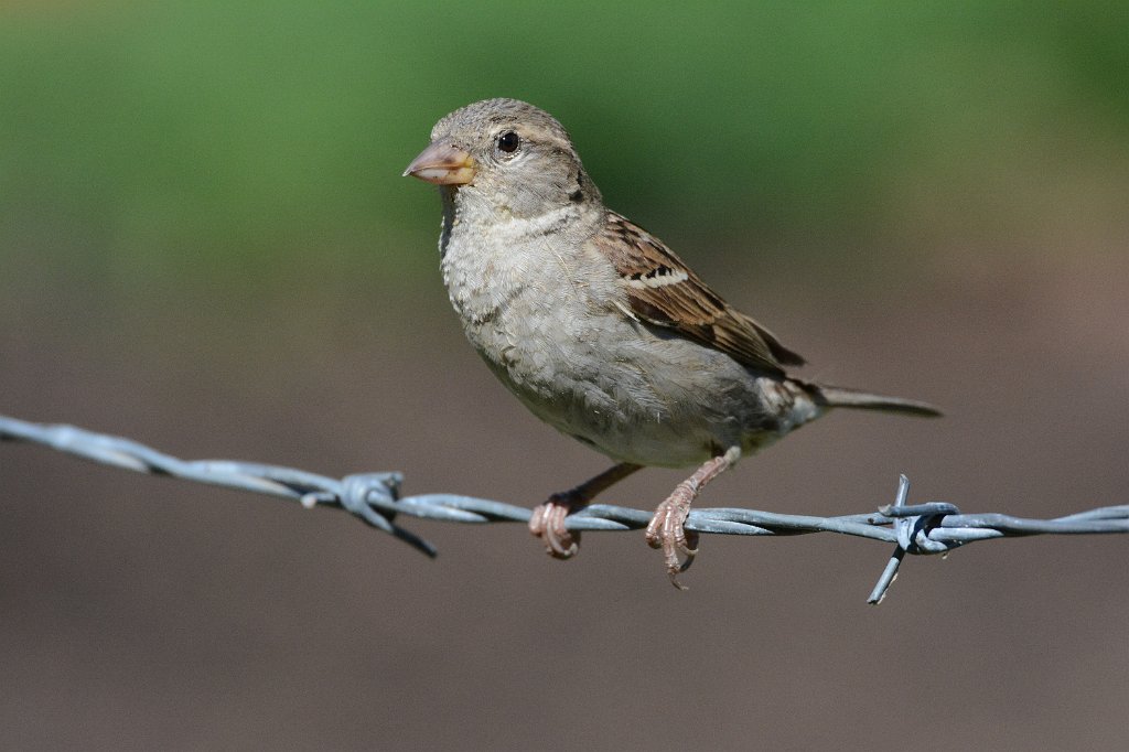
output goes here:
[{"label": "sparrow's folded brown wing with dark streaks and a white bar", "polygon": [[773,375],[784,374],[781,364],[803,365],[802,357],[732,308],[662,241],[629,219],[609,211],[603,231],[593,242],[615,265],[631,313],[639,320]]}]

